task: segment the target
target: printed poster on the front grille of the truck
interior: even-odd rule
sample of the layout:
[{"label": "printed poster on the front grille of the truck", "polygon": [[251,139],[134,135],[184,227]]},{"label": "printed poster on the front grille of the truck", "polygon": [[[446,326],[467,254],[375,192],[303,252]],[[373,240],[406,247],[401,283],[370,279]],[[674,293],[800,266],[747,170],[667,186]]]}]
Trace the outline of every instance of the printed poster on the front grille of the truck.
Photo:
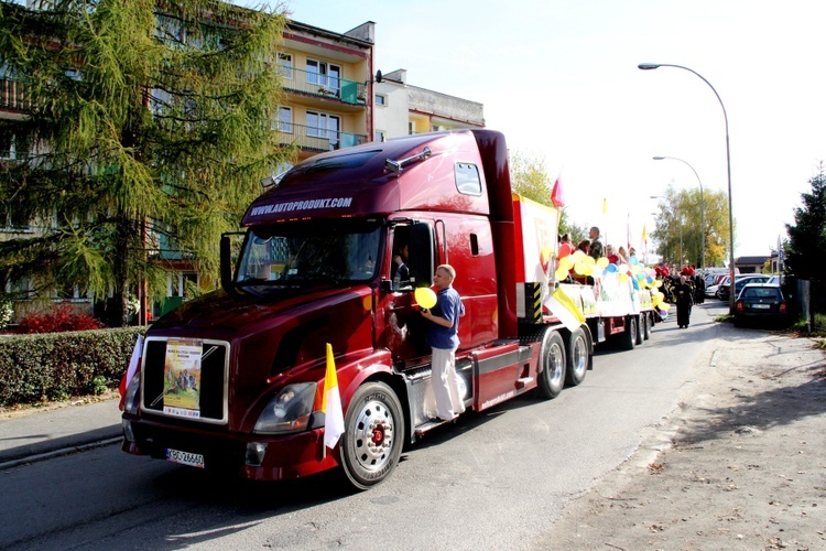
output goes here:
[{"label": "printed poster on the front grille of the truck", "polygon": [[163,366],[163,412],[170,415],[200,417],[202,341],[166,343]]}]

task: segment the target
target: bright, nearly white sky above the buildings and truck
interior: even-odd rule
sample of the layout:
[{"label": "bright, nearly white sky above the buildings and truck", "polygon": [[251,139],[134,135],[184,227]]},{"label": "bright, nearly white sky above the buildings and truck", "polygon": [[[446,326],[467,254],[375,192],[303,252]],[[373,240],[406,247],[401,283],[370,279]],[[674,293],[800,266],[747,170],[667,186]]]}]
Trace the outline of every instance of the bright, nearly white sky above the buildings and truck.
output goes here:
[{"label": "bright, nearly white sky above the buildings and truck", "polygon": [[[268,2],[238,1],[244,6]],[[485,105],[512,150],[561,173],[569,213],[633,240],[667,185],[727,191],[736,255],[768,255],[826,160],[826,2],[791,0],[289,0],[292,19],[336,32],[376,22],[377,68]],[[601,215],[602,198],[608,214]],[[612,236],[617,236],[612,239]]]}]

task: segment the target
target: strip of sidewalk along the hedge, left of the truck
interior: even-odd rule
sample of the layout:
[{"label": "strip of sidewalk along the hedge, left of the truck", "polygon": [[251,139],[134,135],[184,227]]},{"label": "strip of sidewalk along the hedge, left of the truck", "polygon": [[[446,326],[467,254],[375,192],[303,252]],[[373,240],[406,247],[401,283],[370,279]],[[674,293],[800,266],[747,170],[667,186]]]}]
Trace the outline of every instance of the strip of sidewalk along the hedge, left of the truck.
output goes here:
[{"label": "strip of sidewalk along the hedge, left of the truck", "polygon": [[0,468],[117,441],[118,399],[0,414]]}]

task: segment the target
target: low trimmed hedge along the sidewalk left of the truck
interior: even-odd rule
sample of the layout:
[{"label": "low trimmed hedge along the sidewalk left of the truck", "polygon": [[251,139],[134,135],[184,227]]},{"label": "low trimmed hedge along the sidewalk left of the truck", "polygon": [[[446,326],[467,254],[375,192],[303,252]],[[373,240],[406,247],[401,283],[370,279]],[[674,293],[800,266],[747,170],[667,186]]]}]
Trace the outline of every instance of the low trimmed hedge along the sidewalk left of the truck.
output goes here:
[{"label": "low trimmed hedge along the sidewalk left of the truck", "polygon": [[145,327],[0,337],[0,407],[115,389]]}]

